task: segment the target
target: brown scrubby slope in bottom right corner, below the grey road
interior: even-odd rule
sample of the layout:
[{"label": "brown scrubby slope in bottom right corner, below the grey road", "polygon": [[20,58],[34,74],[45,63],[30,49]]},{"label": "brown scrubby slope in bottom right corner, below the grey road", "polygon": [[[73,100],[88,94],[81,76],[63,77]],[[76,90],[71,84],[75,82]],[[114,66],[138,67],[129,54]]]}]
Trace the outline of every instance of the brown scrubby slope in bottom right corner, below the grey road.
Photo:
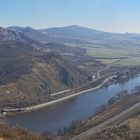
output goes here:
[{"label": "brown scrubby slope in bottom right corner, below the grey road", "polygon": [[117,127],[106,128],[82,140],[138,140],[140,139],[140,116],[128,119]]}]

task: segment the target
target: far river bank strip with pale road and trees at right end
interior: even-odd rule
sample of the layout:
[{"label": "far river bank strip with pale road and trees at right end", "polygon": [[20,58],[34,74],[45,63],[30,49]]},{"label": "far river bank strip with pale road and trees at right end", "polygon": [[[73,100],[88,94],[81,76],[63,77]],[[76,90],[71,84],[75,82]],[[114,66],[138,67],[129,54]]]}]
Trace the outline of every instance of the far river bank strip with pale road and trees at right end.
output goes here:
[{"label": "far river bank strip with pale road and trees at right end", "polygon": [[[117,74],[117,75],[116,75]],[[53,105],[62,101],[65,101],[67,99],[76,97],[80,94],[86,93],[86,92],[90,92],[90,91],[95,91],[100,89],[102,86],[109,86],[111,84],[117,84],[117,83],[123,83],[127,80],[130,80],[130,78],[132,77],[136,77],[137,74],[132,74],[131,75],[125,75],[124,74],[120,74],[120,73],[112,73],[110,75],[106,75],[106,76],[102,76],[99,79],[96,79],[95,81],[93,81],[93,83],[89,83],[89,84],[85,84],[85,87],[82,87],[81,89],[72,91],[72,90],[68,90],[68,94],[65,93],[64,95],[60,94],[60,97],[57,97],[56,99],[46,102],[46,103],[41,103],[38,105],[33,105],[30,107],[23,107],[23,108],[7,108],[7,109],[3,109],[3,116],[13,116],[13,115],[17,115],[17,114],[21,114],[21,113],[25,113],[25,112],[29,112],[29,111],[34,111],[34,110],[38,110],[41,108],[44,108],[46,106],[49,105]],[[90,86],[89,86],[90,85]],[[66,90],[67,91],[67,90]],[[12,112],[12,113],[11,113]]]}]

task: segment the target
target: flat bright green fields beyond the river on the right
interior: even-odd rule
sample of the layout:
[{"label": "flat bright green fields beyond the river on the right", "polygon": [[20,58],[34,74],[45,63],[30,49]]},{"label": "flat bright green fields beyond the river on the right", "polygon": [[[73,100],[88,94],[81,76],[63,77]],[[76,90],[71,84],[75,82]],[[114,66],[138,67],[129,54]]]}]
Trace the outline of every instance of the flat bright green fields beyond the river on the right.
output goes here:
[{"label": "flat bright green fields beyond the river on the right", "polygon": [[[104,64],[111,64],[120,60],[114,65],[122,66],[139,66],[140,65],[140,48],[127,48],[122,50],[109,48],[87,48],[87,55],[102,61]],[[123,57],[127,57],[122,59]],[[116,59],[117,58],[117,59]]]}]

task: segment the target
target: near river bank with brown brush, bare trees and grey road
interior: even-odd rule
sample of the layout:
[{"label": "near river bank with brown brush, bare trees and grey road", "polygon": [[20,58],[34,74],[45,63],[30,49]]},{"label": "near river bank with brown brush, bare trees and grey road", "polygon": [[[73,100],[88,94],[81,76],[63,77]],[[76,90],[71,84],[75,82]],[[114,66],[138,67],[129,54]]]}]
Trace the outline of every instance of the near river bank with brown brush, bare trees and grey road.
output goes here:
[{"label": "near river bank with brown brush, bare trees and grey road", "polygon": [[[67,128],[64,134],[61,133],[59,139],[79,139],[79,136],[93,130],[100,130],[101,127],[108,125],[118,125],[129,117],[137,115],[140,106],[140,89],[133,94],[125,95],[123,98],[116,100],[114,103],[106,105],[95,116],[84,121],[73,123],[72,127]],[[133,111],[132,111],[133,110]],[[71,126],[71,125],[70,125]],[[74,136],[76,135],[76,136]],[[81,138],[82,139],[82,138]]]}]

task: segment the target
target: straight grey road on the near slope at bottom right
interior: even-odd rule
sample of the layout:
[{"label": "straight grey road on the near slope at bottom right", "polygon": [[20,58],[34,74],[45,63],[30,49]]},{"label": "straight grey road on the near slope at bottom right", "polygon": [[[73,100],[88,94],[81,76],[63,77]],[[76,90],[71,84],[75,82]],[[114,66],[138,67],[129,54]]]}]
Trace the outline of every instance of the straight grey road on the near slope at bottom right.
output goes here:
[{"label": "straight grey road on the near slope at bottom right", "polygon": [[140,102],[136,103],[135,105],[133,105],[129,109],[119,113],[118,115],[112,117],[111,119],[109,119],[109,120],[107,120],[107,121],[105,121],[105,122],[103,122],[103,123],[91,128],[91,129],[89,129],[89,130],[87,130],[87,131],[85,131],[85,132],[83,132],[83,133],[71,138],[70,140],[81,140],[83,138],[86,138],[87,136],[90,136],[90,135],[94,134],[95,132],[101,130],[103,127],[108,126],[109,124],[111,124],[111,123],[117,121],[118,119],[126,116],[127,114],[131,113],[133,110],[135,110],[138,107],[140,107]]}]

